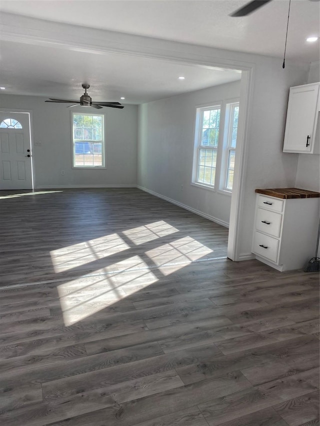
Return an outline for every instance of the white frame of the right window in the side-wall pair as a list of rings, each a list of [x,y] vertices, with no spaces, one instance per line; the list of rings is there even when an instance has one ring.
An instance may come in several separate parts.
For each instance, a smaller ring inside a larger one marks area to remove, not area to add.
[[[231,147],[232,141],[232,128],[233,128],[233,117],[234,117],[234,108],[239,107],[239,99],[227,100],[225,102],[225,113],[224,113],[224,130],[223,130],[223,143],[220,155],[220,173],[219,173],[219,189],[218,192],[221,192],[226,195],[232,194],[232,188],[226,187],[227,177],[228,177],[228,165],[229,165],[229,156],[230,152],[236,152],[235,147]]]

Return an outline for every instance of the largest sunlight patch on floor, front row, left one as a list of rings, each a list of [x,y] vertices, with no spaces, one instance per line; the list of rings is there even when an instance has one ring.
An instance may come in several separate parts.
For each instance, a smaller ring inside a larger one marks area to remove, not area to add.
[[[128,261],[131,267],[140,266],[142,269],[130,272],[126,268],[109,276],[79,277],[57,287],[65,326],[96,314],[157,281],[138,256],[126,259],[126,265]],[[112,268],[116,270],[122,266],[119,264]]]

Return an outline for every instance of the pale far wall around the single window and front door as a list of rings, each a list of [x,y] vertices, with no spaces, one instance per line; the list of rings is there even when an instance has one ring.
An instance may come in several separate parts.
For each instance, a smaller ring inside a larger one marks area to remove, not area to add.
[[[105,169],[73,169],[70,108],[45,103],[46,98],[1,95],[1,108],[32,111],[32,160],[35,188],[136,185],[137,106],[103,108],[105,116]],[[73,107],[73,112],[83,112]],[[87,108],[87,112],[97,112]],[[41,146],[34,142],[41,141]],[[64,170],[64,175],[61,175]]]

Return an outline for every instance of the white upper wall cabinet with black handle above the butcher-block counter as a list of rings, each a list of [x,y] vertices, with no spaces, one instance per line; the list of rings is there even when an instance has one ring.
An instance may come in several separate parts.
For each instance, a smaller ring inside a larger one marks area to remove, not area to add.
[[[319,111],[319,84],[290,87],[283,152],[313,153]]]

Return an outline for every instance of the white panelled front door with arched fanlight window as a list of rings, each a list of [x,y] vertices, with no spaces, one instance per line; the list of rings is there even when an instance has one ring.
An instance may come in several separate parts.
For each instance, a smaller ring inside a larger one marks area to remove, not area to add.
[[[0,111],[0,189],[32,189],[30,117]]]

